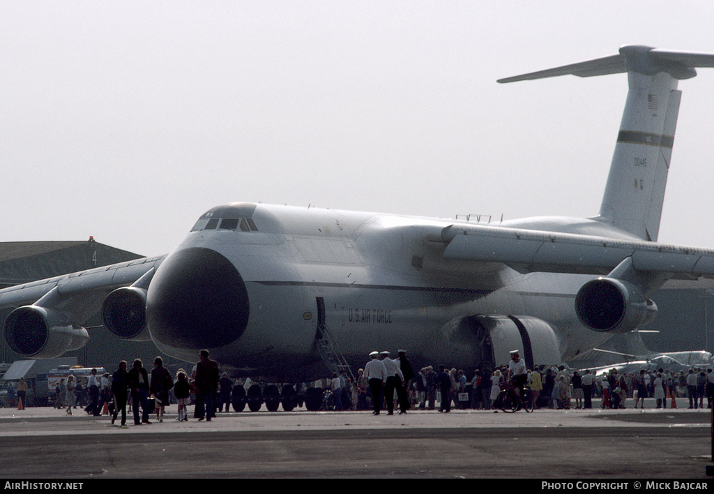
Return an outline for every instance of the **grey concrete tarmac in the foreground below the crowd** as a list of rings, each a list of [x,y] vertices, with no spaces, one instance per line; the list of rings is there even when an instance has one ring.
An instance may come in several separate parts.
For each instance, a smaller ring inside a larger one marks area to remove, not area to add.
[[[124,428],[51,407],[0,409],[0,476],[708,479],[710,410],[219,413]],[[263,409],[264,410],[264,409]],[[189,417],[193,409],[189,407]],[[117,424],[119,421],[117,421]]]

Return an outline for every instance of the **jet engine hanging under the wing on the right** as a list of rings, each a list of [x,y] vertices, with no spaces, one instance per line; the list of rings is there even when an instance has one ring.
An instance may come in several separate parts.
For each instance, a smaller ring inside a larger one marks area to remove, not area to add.
[[[590,330],[624,333],[652,322],[657,305],[630,282],[600,277],[575,295],[575,313]]]

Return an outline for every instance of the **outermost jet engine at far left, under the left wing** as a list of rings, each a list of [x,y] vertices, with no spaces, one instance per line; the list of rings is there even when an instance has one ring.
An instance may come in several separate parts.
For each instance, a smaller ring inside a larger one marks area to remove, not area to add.
[[[25,305],[7,317],[5,339],[23,357],[54,358],[84,347],[89,334],[59,310]]]

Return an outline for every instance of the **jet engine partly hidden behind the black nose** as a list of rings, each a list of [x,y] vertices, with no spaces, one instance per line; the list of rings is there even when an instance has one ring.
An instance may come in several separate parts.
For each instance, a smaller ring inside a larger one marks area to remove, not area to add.
[[[104,325],[122,340],[149,341],[146,327],[146,290],[122,287],[111,292],[101,306]]]

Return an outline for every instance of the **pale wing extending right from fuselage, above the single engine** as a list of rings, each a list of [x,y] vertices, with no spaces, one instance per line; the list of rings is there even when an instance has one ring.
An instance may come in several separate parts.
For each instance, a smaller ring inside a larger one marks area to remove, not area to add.
[[[630,258],[637,272],[714,278],[714,250],[506,227],[451,225],[441,232],[447,259],[502,262],[519,272],[607,275]]]

